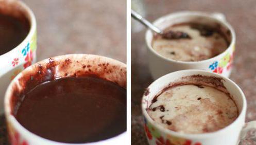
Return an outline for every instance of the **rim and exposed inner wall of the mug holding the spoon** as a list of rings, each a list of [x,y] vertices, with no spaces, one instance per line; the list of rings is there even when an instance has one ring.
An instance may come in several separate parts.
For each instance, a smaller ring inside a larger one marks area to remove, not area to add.
[[[225,51],[227,51],[228,48],[230,48],[233,44],[234,44],[234,30],[232,29],[232,27],[224,21],[220,21],[218,20],[216,17],[214,17],[211,14],[207,14],[207,13],[203,13],[203,12],[191,12],[191,11],[187,11],[187,12],[177,12],[177,13],[172,13],[166,16],[162,16],[159,19],[157,19],[155,22],[153,22],[154,25],[156,25],[157,27],[159,27],[161,30],[164,30],[165,28],[175,25],[175,24],[181,24],[181,23],[198,23],[198,24],[204,24],[204,25],[208,25],[211,26],[213,28],[216,28],[218,30],[220,30],[220,33],[222,35],[225,36],[225,38],[227,39],[227,41],[229,42],[229,46],[226,48]],[[153,51],[157,56],[164,58],[168,61],[174,61],[174,62],[182,62],[182,63],[195,63],[193,61],[179,61],[179,60],[173,60],[173,59],[169,59],[169,58],[165,58],[161,55],[159,55],[158,52],[156,52],[155,49],[152,48],[152,41],[154,38],[155,33],[147,30],[146,32],[146,43],[148,48]],[[224,51],[224,52],[225,52]],[[224,53],[222,52],[222,53]],[[222,54],[220,53],[220,54]],[[219,54],[219,55],[220,55]],[[219,55],[215,56],[218,57]],[[215,58],[213,57],[213,58]],[[210,58],[212,59],[212,58]],[[207,59],[207,60],[210,60]],[[196,61],[196,62],[203,62],[206,60],[201,60],[201,61]]]

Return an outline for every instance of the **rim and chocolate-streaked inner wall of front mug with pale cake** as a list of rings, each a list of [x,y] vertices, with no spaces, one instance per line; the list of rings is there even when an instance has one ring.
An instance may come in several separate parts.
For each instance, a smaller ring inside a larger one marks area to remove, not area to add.
[[[202,76],[203,79],[189,79],[191,76]],[[142,98],[142,112],[146,119],[151,124],[155,125],[159,130],[164,131],[166,133],[175,134],[178,136],[189,135],[192,137],[196,137],[198,134],[182,134],[163,128],[161,125],[154,122],[146,111],[147,108],[150,106],[152,99],[159,93],[162,93],[164,88],[172,86],[175,83],[190,81],[197,81],[202,84],[217,86],[220,90],[224,90],[225,92],[230,93],[231,98],[233,99],[238,108],[238,117],[235,119],[235,121],[240,120],[240,118],[243,117],[241,116],[241,114],[242,112],[245,113],[246,111],[246,99],[240,87],[238,87],[233,81],[218,74],[204,70],[180,70],[172,72],[157,79],[155,82],[150,84],[149,87],[146,89]],[[235,121],[233,121],[231,124],[218,131],[200,134],[200,137],[217,135],[219,132],[224,131],[226,128],[231,128]]]

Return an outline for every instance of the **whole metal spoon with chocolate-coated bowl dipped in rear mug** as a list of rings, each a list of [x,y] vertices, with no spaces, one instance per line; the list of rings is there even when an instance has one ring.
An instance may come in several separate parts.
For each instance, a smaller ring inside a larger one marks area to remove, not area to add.
[[[166,32],[164,32],[133,10],[131,10],[131,16],[135,20],[139,21],[141,24],[143,24],[146,27],[148,27],[149,29],[151,29],[152,31],[162,35],[162,37],[164,39],[191,39],[189,34],[181,32],[181,31],[166,31]]]

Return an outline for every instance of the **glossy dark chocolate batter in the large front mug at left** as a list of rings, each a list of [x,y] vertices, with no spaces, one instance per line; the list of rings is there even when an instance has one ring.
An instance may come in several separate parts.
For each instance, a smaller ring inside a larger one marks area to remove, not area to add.
[[[50,140],[104,140],[126,131],[126,89],[94,77],[61,78],[30,90],[14,114],[27,130]]]

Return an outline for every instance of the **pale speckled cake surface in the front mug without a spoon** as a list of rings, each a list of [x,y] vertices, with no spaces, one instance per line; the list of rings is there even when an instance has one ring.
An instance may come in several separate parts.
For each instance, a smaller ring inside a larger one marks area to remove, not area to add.
[[[169,88],[147,112],[164,128],[192,134],[220,130],[238,116],[237,106],[228,94],[203,85]]]

